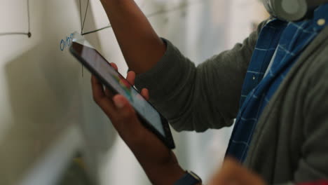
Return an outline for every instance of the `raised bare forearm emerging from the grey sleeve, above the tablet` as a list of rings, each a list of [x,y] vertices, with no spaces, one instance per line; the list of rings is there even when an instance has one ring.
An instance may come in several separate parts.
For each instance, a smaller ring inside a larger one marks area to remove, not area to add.
[[[133,0],[101,0],[128,67],[137,74],[151,69],[165,53],[165,43]]]

